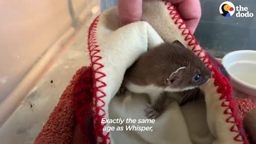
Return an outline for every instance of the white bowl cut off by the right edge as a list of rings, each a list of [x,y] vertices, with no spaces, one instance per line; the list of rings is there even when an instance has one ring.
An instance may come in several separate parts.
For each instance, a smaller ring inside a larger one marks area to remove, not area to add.
[[[222,59],[222,65],[231,77],[231,85],[256,98],[256,51],[230,52]]]

